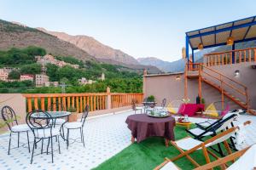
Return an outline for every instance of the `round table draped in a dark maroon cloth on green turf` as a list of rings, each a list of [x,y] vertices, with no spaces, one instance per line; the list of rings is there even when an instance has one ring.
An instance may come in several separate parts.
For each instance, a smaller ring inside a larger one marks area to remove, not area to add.
[[[140,143],[152,136],[165,138],[166,146],[168,146],[170,140],[174,140],[175,118],[172,116],[156,118],[146,114],[137,114],[128,116],[125,122],[131,130],[132,143],[135,139],[137,139],[137,143]]]

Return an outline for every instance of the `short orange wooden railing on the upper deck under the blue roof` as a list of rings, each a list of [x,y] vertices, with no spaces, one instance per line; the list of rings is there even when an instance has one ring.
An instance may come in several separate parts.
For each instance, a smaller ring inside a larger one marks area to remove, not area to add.
[[[232,54],[234,58],[232,57]],[[252,61],[256,61],[256,48],[236,49],[204,55],[204,63],[207,66],[232,65]]]

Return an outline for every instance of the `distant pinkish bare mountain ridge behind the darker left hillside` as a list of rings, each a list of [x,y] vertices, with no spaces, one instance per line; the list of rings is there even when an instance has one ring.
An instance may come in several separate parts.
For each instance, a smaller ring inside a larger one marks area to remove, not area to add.
[[[83,49],[88,54],[96,57],[99,60],[111,60],[117,61],[119,63],[124,63],[125,65],[139,65],[137,59],[131,57],[131,55],[125,54],[124,52],[120,51],[119,49],[113,49],[108,47],[107,45],[98,42],[93,37],[88,36],[72,36],[68,35],[65,32],[57,32],[57,31],[47,31],[44,28],[38,28],[40,31],[44,31],[50,35],[60,38],[66,42],[73,43],[78,48]]]

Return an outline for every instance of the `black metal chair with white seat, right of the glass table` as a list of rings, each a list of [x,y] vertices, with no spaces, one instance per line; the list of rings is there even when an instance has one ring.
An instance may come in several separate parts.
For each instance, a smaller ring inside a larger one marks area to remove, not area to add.
[[[63,132],[63,136],[64,136],[64,127],[67,129],[67,149],[68,149],[68,145],[69,145],[69,131],[73,130],[73,129],[80,129],[80,133],[81,133],[81,142],[84,144],[84,122],[86,117],[88,116],[89,113],[89,105],[86,105],[84,108],[84,112],[82,115],[82,118],[80,121],[78,122],[65,122],[62,124],[61,128],[62,128],[62,132]]]

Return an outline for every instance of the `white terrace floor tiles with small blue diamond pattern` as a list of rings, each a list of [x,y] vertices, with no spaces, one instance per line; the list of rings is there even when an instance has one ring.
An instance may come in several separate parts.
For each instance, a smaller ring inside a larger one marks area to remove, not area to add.
[[[31,165],[31,154],[24,147],[11,150],[11,154],[8,156],[9,136],[2,135],[0,136],[0,170],[85,170],[96,167],[131,144],[131,132],[125,124],[126,117],[131,114],[133,114],[133,111],[125,111],[114,116],[102,116],[88,120],[84,127],[85,148],[81,143],[74,143],[67,150],[66,144],[62,141],[61,154],[55,151],[54,163],[51,163],[50,155],[43,154],[34,156],[34,161]],[[253,144],[256,143],[256,116],[241,116],[240,122],[236,122],[236,124],[247,120],[251,120],[253,123],[250,127],[247,127],[245,144]],[[190,121],[201,122],[202,120],[191,118]],[[12,140],[13,146],[17,144],[15,137]],[[20,137],[21,141],[26,141],[26,135],[24,137],[21,135]],[[71,138],[79,138],[79,131],[73,131]],[[46,144],[44,145],[45,148]],[[57,149],[56,143],[54,148]],[[41,146],[38,144],[36,153],[40,153],[40,149]]]

